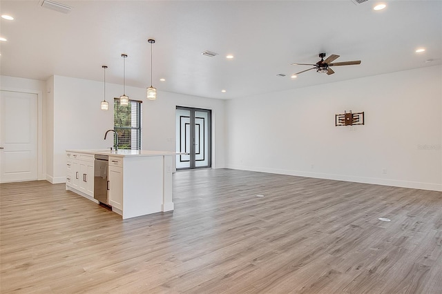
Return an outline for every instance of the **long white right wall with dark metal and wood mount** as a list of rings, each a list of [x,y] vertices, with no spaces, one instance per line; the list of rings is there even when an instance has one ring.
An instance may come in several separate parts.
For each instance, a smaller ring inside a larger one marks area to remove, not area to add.
[[[227,167],[442,190],[441,72],[432,66],[229,100]],[[364,111],[365,126],[334,126],[344,110]]]

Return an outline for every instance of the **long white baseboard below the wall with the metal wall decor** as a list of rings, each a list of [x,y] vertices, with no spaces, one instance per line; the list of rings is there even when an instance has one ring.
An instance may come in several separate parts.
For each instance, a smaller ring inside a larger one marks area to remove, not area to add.
[[[236,166],[231,165],[227,168],[231,168],[234,170],[250,170],[256,171],[260,173],[276,173],[279,175],[294,175],[297,177],[313,177],[316,179],[332,179],[336,181],[345,181],[345,182],[355,182],[355,183],[363,183],[363,184],[376,184],[383,186],[393,186],[393,187],[401,187],[401,188],[414,188],[421,190],[433,190],[433,191],[442,191],[442,184],[433,184],[433,183],[423,183],[423,182],[410,182],[410,181],[400,181],[396,179],[379,179],[374,177],[355,177],[352,175],[334,175],[327,173],[311,173],[304,172],[299,170],[281,170],[276,168],[260,168],[260,167],[250,167],[250,166]]]

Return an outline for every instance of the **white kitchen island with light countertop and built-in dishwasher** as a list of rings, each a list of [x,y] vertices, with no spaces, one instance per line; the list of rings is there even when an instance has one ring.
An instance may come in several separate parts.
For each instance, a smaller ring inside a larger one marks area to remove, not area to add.
[[[104,182],[107,203],[103,203],[123,219],[171,211],[175,154],[151,150],[66,150],[66,190],[99,203],[95,197],[97,185]],[[95,166],[95,155],[107,156],[108,167]]]

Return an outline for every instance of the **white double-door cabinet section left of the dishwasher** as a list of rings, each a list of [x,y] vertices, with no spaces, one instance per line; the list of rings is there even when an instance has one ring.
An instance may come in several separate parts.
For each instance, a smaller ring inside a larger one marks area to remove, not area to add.
[[[94,155],[66,153],[66,188],[94,196]]]

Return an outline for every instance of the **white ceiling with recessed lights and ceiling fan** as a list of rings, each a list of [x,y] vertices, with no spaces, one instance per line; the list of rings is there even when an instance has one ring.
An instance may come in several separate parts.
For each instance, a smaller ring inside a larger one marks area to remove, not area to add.
[[[434,66],[442,59],[442,1],[64,1],[68,14],[41,1],[3,1],[1,75],[46,80],[51,75],[230,99]],[[426,51],[417,54],[416,48]],[[200,53],[211,50],[216,57]],[[360,66],[327,76],[291,63],[316,63],[318,53]],[[227,54],[234,59],[226,59]],[[431,62],[425,62],[432,59]],[[278,77],[283,73],[287,77]],[[160,81],[160,78],[166,81]],[[225,89],[227,92],[222,93]],[[119,94],[119,93],[117,93]],[[115,95],[117,95],[115,94]]]

